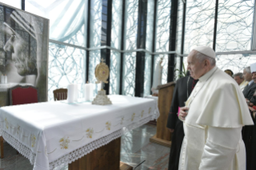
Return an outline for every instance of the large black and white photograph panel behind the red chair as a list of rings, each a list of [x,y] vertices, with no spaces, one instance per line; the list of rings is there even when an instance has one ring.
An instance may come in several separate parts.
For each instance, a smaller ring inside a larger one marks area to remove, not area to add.
[[[47,101],[49,20],[0,3],[0,71],[8,83],[39,89]]]

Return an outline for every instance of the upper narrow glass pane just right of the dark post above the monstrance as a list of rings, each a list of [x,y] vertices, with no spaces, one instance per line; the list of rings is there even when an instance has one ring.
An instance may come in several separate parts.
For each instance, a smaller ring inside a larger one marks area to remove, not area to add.
[[[112,2],[112,32],[111,32],[111,47],[121,49],[122,37],[122,6],[123,1],[113,0]]]

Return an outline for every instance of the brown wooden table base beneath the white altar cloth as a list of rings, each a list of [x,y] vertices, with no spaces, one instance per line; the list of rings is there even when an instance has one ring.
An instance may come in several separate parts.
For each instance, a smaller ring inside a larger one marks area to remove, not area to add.
[[[112,142],[68,164],[68,170],[132,170],[132,167],[128,168],[127,164],[120,164],[120,145],[120,138],[112,140]]]

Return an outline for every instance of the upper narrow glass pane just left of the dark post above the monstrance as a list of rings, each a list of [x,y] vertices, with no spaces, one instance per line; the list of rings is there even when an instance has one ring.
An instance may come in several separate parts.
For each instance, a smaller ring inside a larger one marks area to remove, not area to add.
[[[100,47],[102,0],[91,0],[90,47]],[[91,53],[90,53],[91,54]]]

